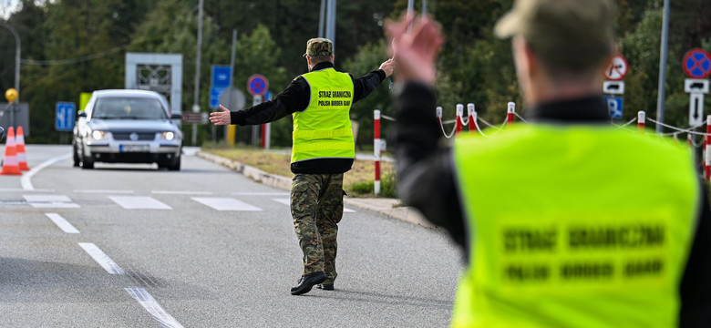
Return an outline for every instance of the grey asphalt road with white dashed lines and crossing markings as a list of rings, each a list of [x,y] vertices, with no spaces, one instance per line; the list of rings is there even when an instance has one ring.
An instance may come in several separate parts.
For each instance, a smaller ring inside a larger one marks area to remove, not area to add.
[[[335,291],[293,296],[287,191],[190,154],[86,170],[26,149],[33,170],[0,176],[0,326],[448,326],[461,262],[441,231],[352,208]]]

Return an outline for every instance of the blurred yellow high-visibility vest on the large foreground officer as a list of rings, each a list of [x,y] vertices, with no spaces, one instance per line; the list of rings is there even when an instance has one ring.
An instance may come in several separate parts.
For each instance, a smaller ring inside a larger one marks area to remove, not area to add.
[[[470,258],[453,327],[677,325],[700,197],[687,147],[529,124],[461,136],[454,157]]]

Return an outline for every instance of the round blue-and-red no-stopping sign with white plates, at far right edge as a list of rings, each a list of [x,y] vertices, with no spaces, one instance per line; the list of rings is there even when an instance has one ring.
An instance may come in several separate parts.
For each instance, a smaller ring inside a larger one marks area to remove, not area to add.
[[[711,75],[711,56],[704,49],[694,48],[686,52],[682,60],[684,73],[684,91],[689,93],[689,125],[697,127],[704,124],[704,95],[708,93],[708,80]]]

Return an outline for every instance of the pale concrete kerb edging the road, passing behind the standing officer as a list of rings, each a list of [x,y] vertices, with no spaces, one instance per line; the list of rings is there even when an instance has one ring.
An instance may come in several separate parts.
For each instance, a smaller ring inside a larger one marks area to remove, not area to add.
[[[220,164],[223,167],[235,170],[238,173],[242,173],[244,176],[253,179],[257,182],[263,183],[267,186],[283,190],[291,190],[292,188],[291,178],[267,173],[261,169],[253,168],[239,161],[233,159],[226,159],[221,156],[206,153],[204,151],[197,151],[195,155],[201,159],[210,160],[211,162]],[[425,220],[422,217],[418,210],[415,210],[411,207],[402,206],[400,200],[397,199],[345,197],[344,202],[346,205],[355,206],[365,210],[372,210],[397,220],[404,220],[410,223],[419,224],[424,227],[434,228],[434,226],[429,223],[428,220]]]

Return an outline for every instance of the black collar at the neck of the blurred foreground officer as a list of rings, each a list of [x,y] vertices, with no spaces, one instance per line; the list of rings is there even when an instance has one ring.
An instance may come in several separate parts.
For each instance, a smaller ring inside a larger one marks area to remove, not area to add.
[[[610,122],[610,113],[600,95],[537,104],[526,110],[525,117],[531,121]]]

